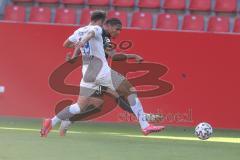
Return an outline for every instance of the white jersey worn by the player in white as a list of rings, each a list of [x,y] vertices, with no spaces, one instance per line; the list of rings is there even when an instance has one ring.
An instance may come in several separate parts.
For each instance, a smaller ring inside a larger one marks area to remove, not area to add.
[[[95,37],[90,39],[83,48],[81,48],[81,53],[83,57],[95,56],[101,59],[103,67],[99,73],[99,76],[102,77],[105,73],[110,72],[110,67],[105,57],[105,51],[103,47],[103,38],[102,38],[102,28],[98,25],[88,25],[77,29],[68,39],[71,42],[77,43],[81,41],[88,32],[94,31]],[[89,58],[90,59],[90,58]],[[83,64],[84,58],[83,58]],[[83,75],[87,69],[87,65],[83,65],[82,72]]]

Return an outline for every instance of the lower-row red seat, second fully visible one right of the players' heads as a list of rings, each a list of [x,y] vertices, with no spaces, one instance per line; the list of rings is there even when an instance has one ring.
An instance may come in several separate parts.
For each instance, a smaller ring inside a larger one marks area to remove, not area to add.
[[[178,16],[175,14],[162,13],[158,15],[157,26],[159,29],[178,29]]]

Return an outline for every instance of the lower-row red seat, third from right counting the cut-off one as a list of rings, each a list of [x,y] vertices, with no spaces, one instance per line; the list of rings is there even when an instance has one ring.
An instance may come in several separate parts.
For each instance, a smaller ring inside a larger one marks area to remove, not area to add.
[[[204,31],[204,17],[202,15],[184,16],[182,29],[192,31]]]

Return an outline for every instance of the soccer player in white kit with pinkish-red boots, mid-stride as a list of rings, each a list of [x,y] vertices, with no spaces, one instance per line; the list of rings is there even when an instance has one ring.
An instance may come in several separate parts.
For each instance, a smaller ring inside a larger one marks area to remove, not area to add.
[[[91,23],[88,26],[76,30],[74,34],[65,41],[64,46],[70,48],[75,46],[75,48],[79,48],[82,53],[83,78],[80,83],[80,95],[77,103],[64,108],[52,119],[44,119],[40,132],[42,137],[46,137],[58,122],[68,120],[74,115],[84,111],[90,102],[94,104],[94,101],[101,101],[101,99],[90,97],[98,89],[99,85],[113,91],[119,90],[125,94],[133,113],[140,123],[144,135],[164,129],[164,126],[153,126],[145,120],[144,111],[137,95],[131,92],[130,88],[125,89],[125,87],[131,87],[131,85],[124,80],[123,76],[111,70],[108,66],[105,58],[101,28],[105,18],[105,12],[93,12],[91,15]],[[113,77],[115,77],[115,79],[113,79]]]

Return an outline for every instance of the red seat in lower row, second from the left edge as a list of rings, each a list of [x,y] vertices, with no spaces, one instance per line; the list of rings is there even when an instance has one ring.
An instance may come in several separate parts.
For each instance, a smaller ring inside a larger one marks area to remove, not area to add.
[[[32,7],[29,21],[50,23],[51,9],[49,7]]]

